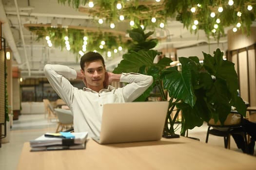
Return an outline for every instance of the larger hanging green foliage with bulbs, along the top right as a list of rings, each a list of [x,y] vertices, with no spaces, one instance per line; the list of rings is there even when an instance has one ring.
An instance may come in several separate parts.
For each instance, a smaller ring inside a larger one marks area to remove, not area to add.
[[[89,0],[58,0],[59,3],[66,3],[73,8],[81,8],[79,5],[85,5]],[[116,4],[120,2],[122,9],[118,10]],[[197,33],[203,30],[208,38],[214,37],[219,40],[221,36],[225,36],[225,27],[237,27],[244,29],[249,34],[250,26],[256,18],[256,0],[235,0],[233,5],[228,4],[228,0],[162,0],[160,2],[150,2],[140,0],[94,0],[94,7],[90,8],[87,13],[94,17],[104,17],[109,22],[118,22],[118,16],[124,15],[126,19],[134,19],[137,24],[143,22],[144,25],[150,27],[158,27],[158,23],[152,23],[151,18],[156,17],[157,21],[165,22],[170,18],[175,18],[183,23],[183,26]],[[252,10],[248,10],[247,6],[251,5]],[[153,7],[157,8],[153,8]],[[195,12],[191,12],[191,8],[195,7]],[[218,7],[222,7],[223,12],[218,12]],[[99,10],[97,10],[97,8]],[[215,17],[210,17],[211,13],[215,13]],[[241,12],[241,16],[238,16]],[[220,23],[217,23],[217,18]],[[194,24],[197,20],[198,24]],[[217,26],[215,26],[217,24]],[[192,26],[196,29],[193,30]],[[194,27],[195,27],[194,26]],[[217,28],[215,28],[217,27]]]

